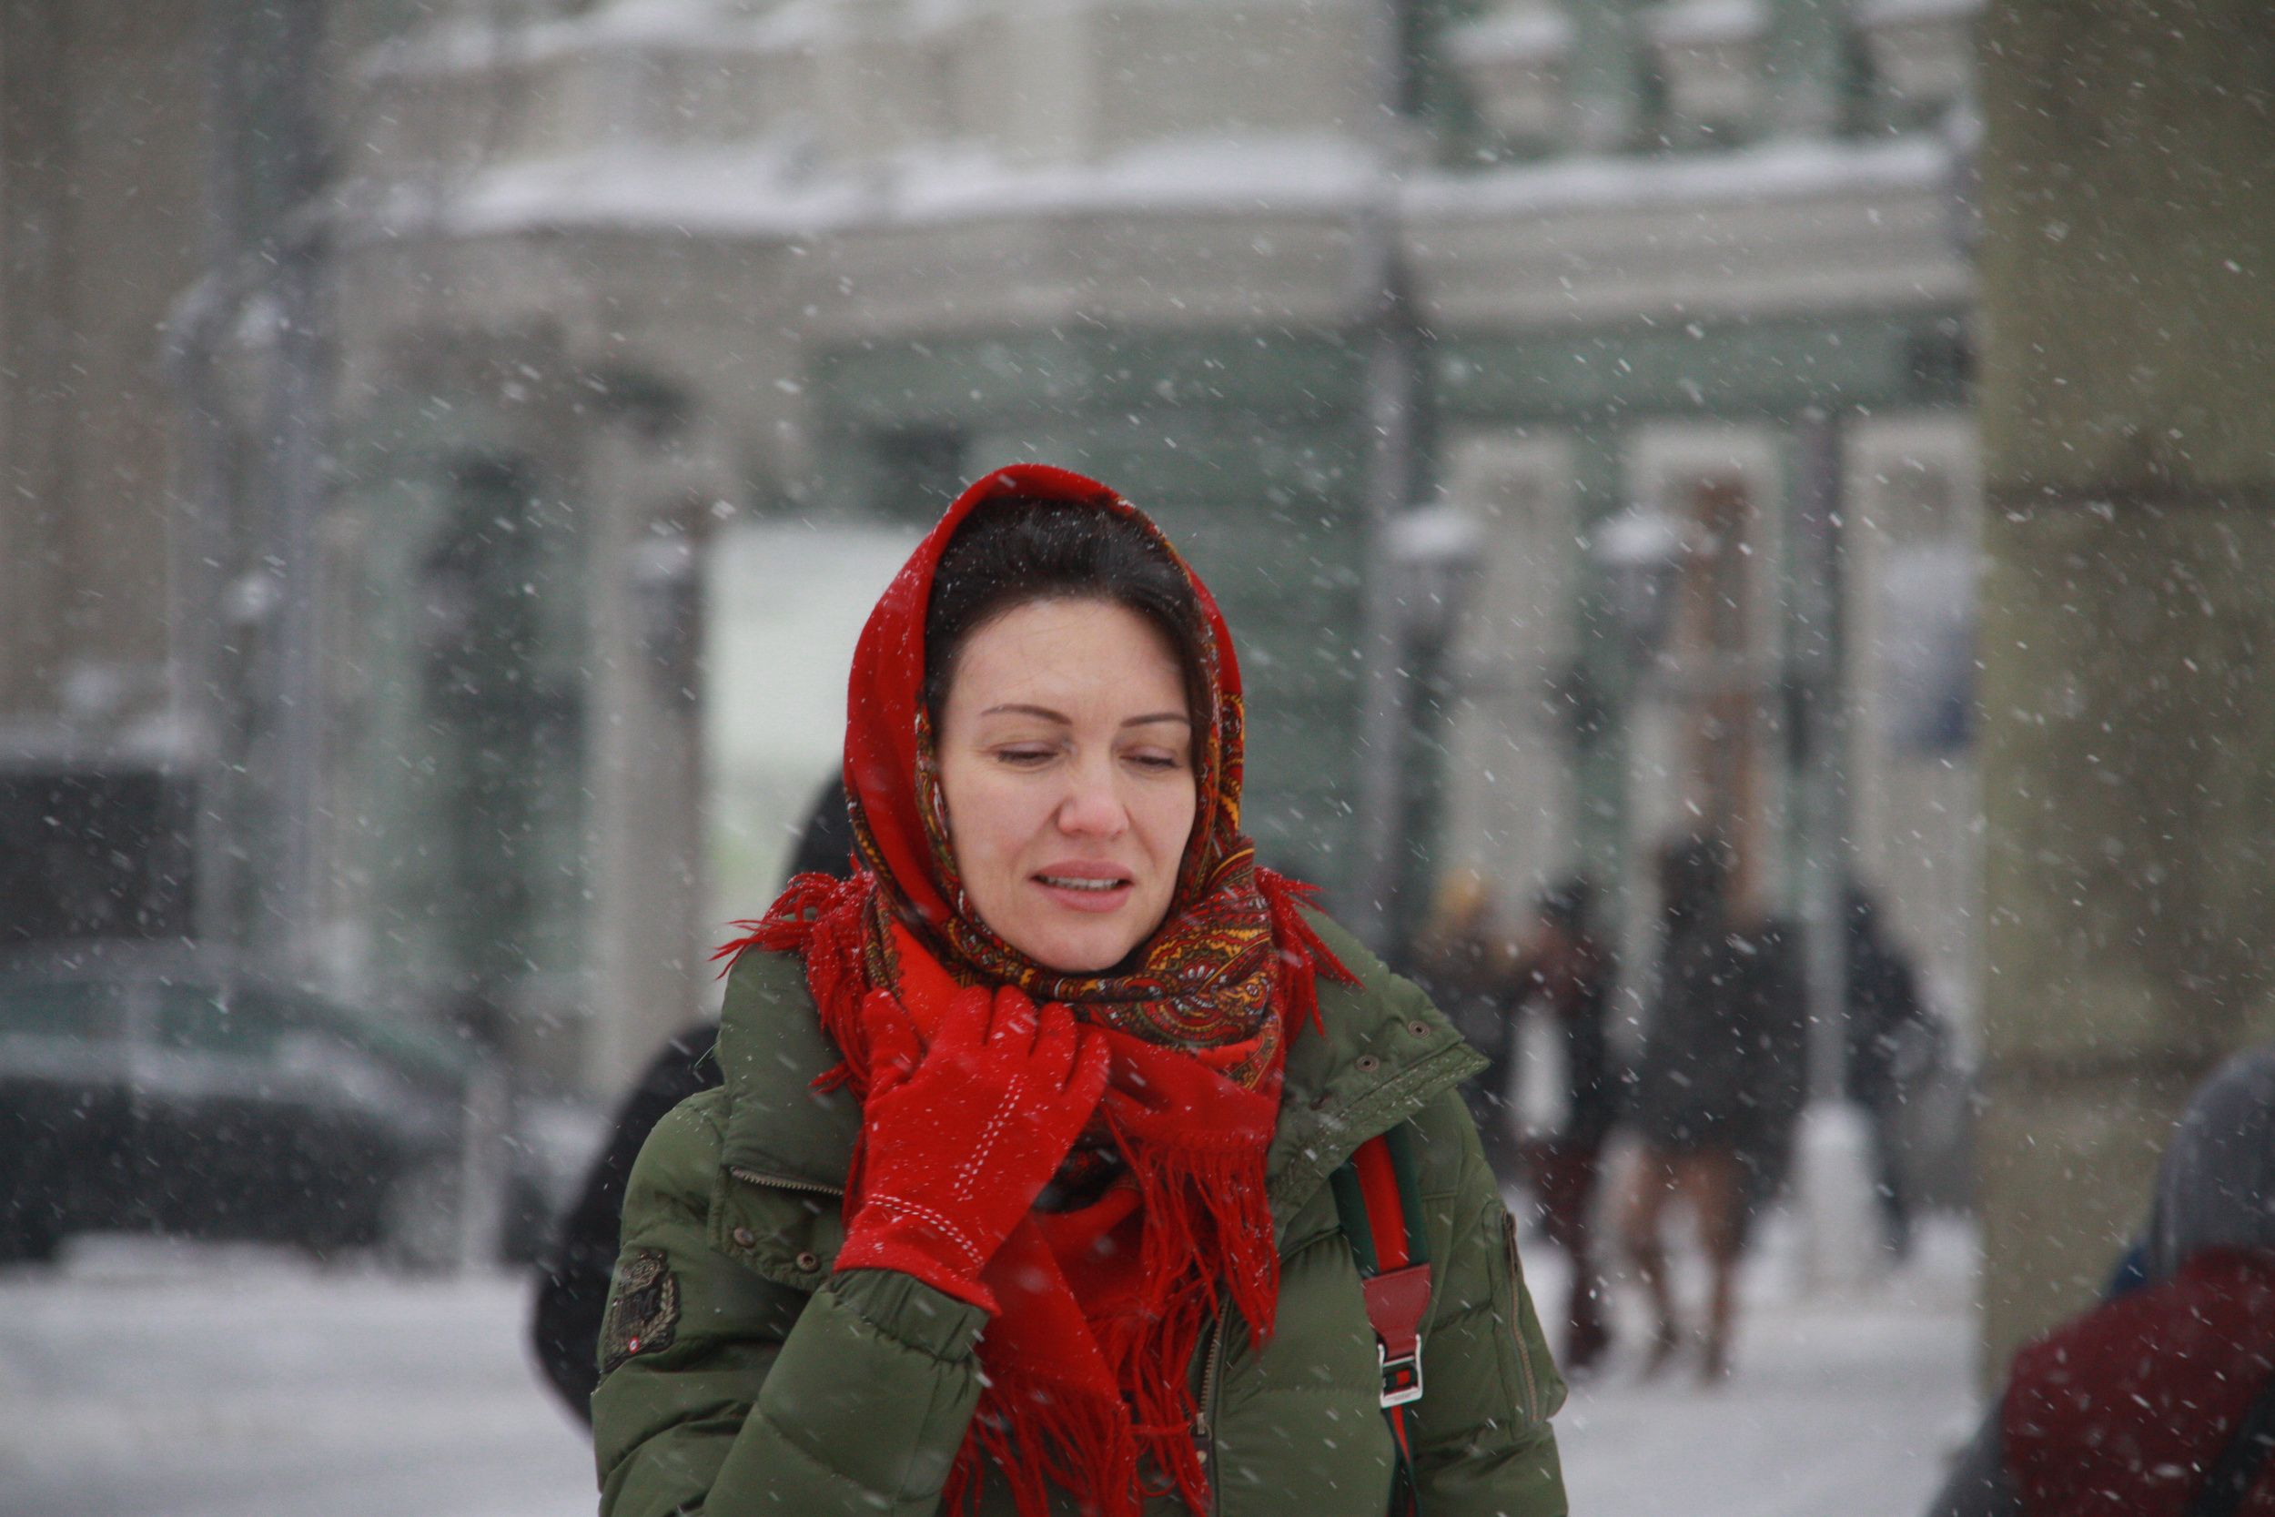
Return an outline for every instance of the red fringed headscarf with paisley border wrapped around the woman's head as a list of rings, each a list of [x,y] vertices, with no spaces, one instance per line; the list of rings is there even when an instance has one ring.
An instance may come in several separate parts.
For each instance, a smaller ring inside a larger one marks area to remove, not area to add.
[[[1160,928],[1124,973],[1035,964],[965,907],[924,710],[924,619],[933,573],[978,509],[1021,503],[1092,507],[1142,528],[1192,585],[1206,623],[1206,712],[1194,741],[1197,807]],[[860,871],[801,876],[748,937],[721,948],[794,951],[855,1094],[869,1051],[860,1003],[890,989],[930,1028],[956,985],[1017,985],[1065,1001],[1112,1048],[1101,1119],[1060,1176],[1074,1210],[1031,1212],[990,1262],[999,1315],[981,1340],[987,1387],[949,1474],[946,1503],[976,1503],[992,1460],[1021,1517],[1044,1517],[1046,1481],[1085,1510],[1138,1512],[1140,1490],[1174,1490],[1201,1510],[1208,1478],[1190,1426],[1188,1383],[1201,1326],[1233,1305],[1272,1333],[1279,1255],[1265,1201],[1265,1146],[1281,1062],[1317,1017],[1315,976],[1349,971],[1297,912],[1308,889],[1256,867],[1240,832],[1240,666],[1215,598],[1160,530],[1117,494],[1040,464],[999,469],[967,489],[862,628],[846,698],[846,791]],[[846,1217],[860,1205],[860,1155]]]

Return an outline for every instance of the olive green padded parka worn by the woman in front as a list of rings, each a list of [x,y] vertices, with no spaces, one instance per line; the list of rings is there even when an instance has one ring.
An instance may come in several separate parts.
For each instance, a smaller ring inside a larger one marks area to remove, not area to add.
[[[1219,1517],[1376,1517],[1392,1446],[1358,1269],[1329,1174],[1413,1121],[1433,1260],[1422,1401],[1408,1408],[1422,1517],[1563,1517],[1549,1415],[1563,1381],[1517,1267],[1515,1226],[1456,1085],[1483,1060],[1422,992],[1315,919],[1360,985],[1322,978],[1326,1035],[1288,1046],[1267,1153],[1279,1328],[1203,1333],[1194,1437]],[[721,1089],[642,1149],[594,1392],[603,1517],[917,1515],[978,1401],[987,1315],[915,1278],[830,1276],[860,1110],[810,1083],[837,1062],[796,960],[728,978]],[[1074,1501],[1058,1508],[1074,1512]],[[987,1517],[1012,1512],[1001,1478]],[[1176,1517],[1174,1499],[1147,1506]]]

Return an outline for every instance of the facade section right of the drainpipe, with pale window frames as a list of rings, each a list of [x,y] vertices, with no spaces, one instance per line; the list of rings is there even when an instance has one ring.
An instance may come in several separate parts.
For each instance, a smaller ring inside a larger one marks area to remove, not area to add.
[[[1888,901],[1972,1021],[1970,5],[1504,5],[1447,34],[1502,155],[1410,193],[1438,482],[1490,523],[1451,650],[1440,848],[1511,885],[1713,830]],[[1840,434],[1811,607],[1800,421]],[[1802,826],[1831,641],[1845,835]]]

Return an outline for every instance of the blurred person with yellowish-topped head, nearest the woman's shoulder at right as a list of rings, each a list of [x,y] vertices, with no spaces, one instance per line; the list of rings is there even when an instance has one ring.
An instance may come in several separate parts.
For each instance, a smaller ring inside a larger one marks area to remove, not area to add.
[[[1515,944],[1495,921],[1492,887],[1472,869],[1438,882],[1429,923],[1415,937],[1408,976],[1445,1012],[1463,1042],[1486,1055],[1481,1073],[1461,1087],[1486,1144],[1486,1162],[1502,1185],[1522,1174],[1517,1130],[1508,1114],[1508,1071],[1515,1053]]]

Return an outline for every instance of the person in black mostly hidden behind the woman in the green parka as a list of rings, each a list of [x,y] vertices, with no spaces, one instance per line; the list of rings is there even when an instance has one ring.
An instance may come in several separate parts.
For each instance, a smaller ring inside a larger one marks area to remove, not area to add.
[[[844,780],[830,780],[814,796],[799,848],[789,857],[789,873],[842,878],[851,867],[853,823],[846,816],[846,789]],[[655,1124],[687,1096],[721,1083],[719,1064],[712,1060],[717,1042],[719,1023],[698,1021],[657,1051],[617,1108],[601,1155],[537,1262],[530,1346],[546,1381],[587,1424],[592,1424],[592,1390],[601,1383],[601,1317],[607,1312],[607,1280],[617,1267],[626,1178]]]

